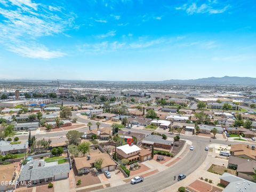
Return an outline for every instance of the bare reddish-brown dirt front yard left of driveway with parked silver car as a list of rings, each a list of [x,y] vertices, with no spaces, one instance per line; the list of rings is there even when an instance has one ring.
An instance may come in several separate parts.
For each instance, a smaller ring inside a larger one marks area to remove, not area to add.
[[[73,171],[75,174],[76,183],[79,179],[81,179],[81,185],[76,185],[77,188],[100,183],[100,179],[95,173],[78,174],[75,166],[73,166]]]

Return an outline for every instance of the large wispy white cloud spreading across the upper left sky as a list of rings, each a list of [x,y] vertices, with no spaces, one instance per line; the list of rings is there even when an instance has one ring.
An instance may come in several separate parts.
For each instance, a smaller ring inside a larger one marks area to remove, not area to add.
[[[0,16],[4,18],[0,21],[0,43],[7,50],[40,59],[65,55],[60,51],[50,51],[38,43],[38,38],[64,34],[68,28],[77,27],[74,25],[75,14],[61,12],[61,7],[36,4],[30,0],[10,0],[7,5],[12,9],[0,8]]]

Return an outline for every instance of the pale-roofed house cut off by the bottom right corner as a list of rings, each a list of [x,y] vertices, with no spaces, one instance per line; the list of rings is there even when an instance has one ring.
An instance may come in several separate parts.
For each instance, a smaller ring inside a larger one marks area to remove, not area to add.
[[[233,174],[223,173],[220,183],[225,186],[222,192],[252,192],[256,191],[256,183],[239,178]]]

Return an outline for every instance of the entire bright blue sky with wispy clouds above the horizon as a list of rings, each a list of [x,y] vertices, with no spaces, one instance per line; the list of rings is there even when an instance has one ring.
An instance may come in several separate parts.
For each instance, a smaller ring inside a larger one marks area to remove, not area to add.
[[[0,0],[0,78],[256,77],[253,0]]]

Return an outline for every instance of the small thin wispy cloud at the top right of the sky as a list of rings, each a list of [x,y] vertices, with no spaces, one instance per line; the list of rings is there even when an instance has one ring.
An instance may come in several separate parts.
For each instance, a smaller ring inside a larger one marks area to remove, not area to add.
[[[216,1],[208,1],[207,3],[203,3],[198,5],[196,3],[191,4],[183,4],[182,6],[175,7],[176,10],[186,11],[189,15],[195,13],[208,13],[208,14],[218,14],[223,13],[229,9],[230,5],[220,5]]]

